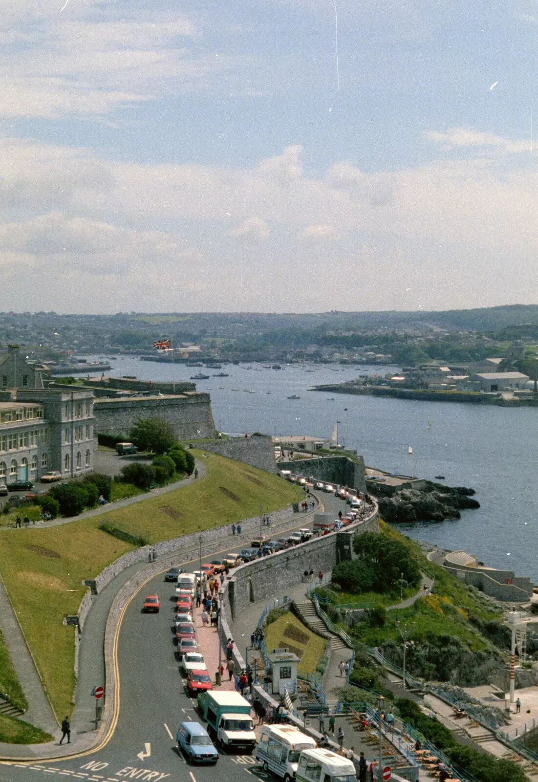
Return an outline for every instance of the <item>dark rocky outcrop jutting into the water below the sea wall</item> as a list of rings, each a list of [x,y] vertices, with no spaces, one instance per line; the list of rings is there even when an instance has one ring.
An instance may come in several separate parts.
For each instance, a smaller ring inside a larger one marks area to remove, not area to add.
[[[381,485],[377,494],[375,490],[370,493],[375,495],[379,513],[389,524],[442,522],[446,518],[461,518],[462,510],[480,507],[478,500],[472,499],[475,490],[433,481],[425,481],[420,489],[402,489],[392,497],[383,496]]]

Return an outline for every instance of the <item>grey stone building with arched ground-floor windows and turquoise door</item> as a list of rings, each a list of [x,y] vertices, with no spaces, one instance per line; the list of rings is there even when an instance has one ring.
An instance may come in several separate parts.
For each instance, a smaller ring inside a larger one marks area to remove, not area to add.
[[[0,393],[0,482],[38,480],[50,470],[72,478],[93,469],[93,394],[8,389]]]

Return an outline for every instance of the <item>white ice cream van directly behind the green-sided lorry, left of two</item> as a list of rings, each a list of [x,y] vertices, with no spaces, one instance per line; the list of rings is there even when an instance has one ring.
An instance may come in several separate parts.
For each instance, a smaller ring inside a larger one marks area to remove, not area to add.
[[[295,726],[264,725],[255,757],[264,766],[264,771],[271,769],[278,777],[284,777],[285,782],[292,782],[301,750],[314,749],[315,746],[314,739],[302,734]]]

